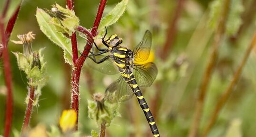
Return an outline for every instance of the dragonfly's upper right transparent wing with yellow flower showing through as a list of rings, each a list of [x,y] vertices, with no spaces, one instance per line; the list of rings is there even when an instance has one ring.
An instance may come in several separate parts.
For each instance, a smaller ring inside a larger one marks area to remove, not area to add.
[[[134,60],[137,62],[146,61],[150,53],[151,44],[152,34],[149,30],[147,30],[142,41],[133,50]]]

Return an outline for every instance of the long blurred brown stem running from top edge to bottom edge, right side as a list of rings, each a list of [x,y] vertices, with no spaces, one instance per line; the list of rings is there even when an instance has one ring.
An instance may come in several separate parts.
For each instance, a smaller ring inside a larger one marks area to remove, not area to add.
[[[214,69],[214,66],[217,61],[218,47],[220,46],[220,44],[223,40],[223,36],[225,34],[226,19],[227,19],[228,12],[229,12],[230,0],[225,0],[223,2],[224,2],[224,4],[223,4],[222,12],[221,12],[222,16],[219,20],[218,27],[215,32],[213,47],[212,47],[213,49],[212,49],[212,53],[210,55],[210,60],[208,61],[206,71],[205,71],[205,73],[203,75],[203,79],[201,81],[201,87],[199,89],[199,94],[198,94],[197,102],[196,102],[196,110],[195,110],[195,114],[194,114],[194,119],[191,124],[188,137],[196,137],[198,134],[198,128],[199,128],[200,121],[202,118],[202,112],[203,112],[203,108],[204,108],[208,84],[210,82],[210,79],[211,79],[211,76],[213,73],[213,69]]]

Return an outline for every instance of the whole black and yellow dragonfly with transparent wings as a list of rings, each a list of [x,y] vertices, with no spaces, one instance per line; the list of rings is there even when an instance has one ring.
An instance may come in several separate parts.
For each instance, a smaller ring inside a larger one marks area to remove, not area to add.
[[[121,46],[123,40],[117,34],[111,35],[105,40],[107,34],[106,29],[102,43],[107,48],[98,48],[94,43],[99,52],[95,53],[92,49],[87,63],[93,69],[105,74],[121,74],[117,81],[108,86],[106,92],[114,93],[115,99],[113,100],[118,101],[129,100],[135,95],[148,120],[153,136],[160,137],[157,124],[139,88],[139,86],[149,87],[158,73],[156,65],[147,62],[152,43],[151,32],[149,30],[145,32],[143,39],[133,51]]]

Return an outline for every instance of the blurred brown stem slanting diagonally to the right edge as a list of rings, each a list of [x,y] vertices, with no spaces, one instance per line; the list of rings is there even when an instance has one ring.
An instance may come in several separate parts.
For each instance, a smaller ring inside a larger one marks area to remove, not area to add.
[[[233,91],[234,87],[236,86],[236,82],[238,81],[242,70],[246,64],[246,61],[251,53],[251,51],[253,50],[253,47],[256,46],[256,32],[254,33],[254,37],[252,39],[251,44],[248,46],[248,48],[246,49],[246,53],[243,57],[242,62],[239,64],[236,73],[233,76],[232,81],[229,83],[226,91],[221,95],[221,97],[219,98],[217,105],[214,109],[214,112],[212,113],[212,116],[207,124],[207,128],[205,128],[202,137],[207,137],[210,129],[213,127],[214,123],[216,122],[217,116],[220,112],[220,110],[222,109],[222,107],[224,106],[226,100],[228,99],[228,97],[230,96],[231,92]]]

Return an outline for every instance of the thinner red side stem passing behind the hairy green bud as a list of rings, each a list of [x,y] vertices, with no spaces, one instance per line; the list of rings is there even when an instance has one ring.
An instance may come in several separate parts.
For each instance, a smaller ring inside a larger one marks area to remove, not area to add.
[[[67,0],[67,5],[70,10],[74,10],[74,0]],[[72,60],[73,64],[76,64],[76,61],[78,60],[78,44],[76,32],[73,32],[70,38],[72,45]]]

